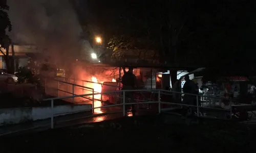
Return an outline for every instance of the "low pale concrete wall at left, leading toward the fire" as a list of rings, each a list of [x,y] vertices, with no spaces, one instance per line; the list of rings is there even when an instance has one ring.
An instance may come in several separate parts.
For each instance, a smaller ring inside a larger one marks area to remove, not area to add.
[[[91,104],[54,106],[53,113],[56,117],[91,108]],[[0,109],[0,126],[51,118],[51,111],[51,107]]]

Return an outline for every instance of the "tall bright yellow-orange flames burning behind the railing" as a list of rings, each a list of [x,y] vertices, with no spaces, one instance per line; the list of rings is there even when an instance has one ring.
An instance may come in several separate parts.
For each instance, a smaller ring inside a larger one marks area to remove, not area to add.
[[[94,83],[93,83],[93,89],[94,89],[94,91],[100,93],[100,92],[101,92],[101,85],[100,85],[100,84],[97,84],[97,83],[98,83],[97,78],[96,78],[96,77],[92,77],[92,82],[94,82]],[[95,95],[94,95],[94,98],[100,99],[100,96],[101,96],[101,94],[95,94]],[[101,101],[94,100],[94,107],[101,107],[101,106],[102,106],[102,105],[101,105]],[[95,113],[102,113],[101,109],[94,109],[94,112],[95,112]]]

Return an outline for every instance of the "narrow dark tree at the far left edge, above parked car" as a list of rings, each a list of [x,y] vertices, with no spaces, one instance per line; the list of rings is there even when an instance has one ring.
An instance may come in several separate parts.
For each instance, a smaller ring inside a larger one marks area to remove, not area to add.
[[[6,11],[9,10],[9,6],[7,5],[7,1],[0,1],[0,20],[1,20],[1,24],[0,24],[0,44],[1,44],[1,48],[0,48],[0,52],[3,54],[6,66],[7,66],[7,71],[10,73],[13,73],[11,69],[11,67],[13,67],[11,64],[11,60],[10,60],[10,56],[9,56],[9,47],[11,44],[11,39],[9,38],[9,36],[6,34],[6,30],[8,30],[9,32],[12,30],[12,25],[11,25],[11,21],[9,19],[8,13]],[[3,52],[2,48],[6,49],[6,53]],[[12,46],[12,52],[14,52],[13,50],[13,46]]]

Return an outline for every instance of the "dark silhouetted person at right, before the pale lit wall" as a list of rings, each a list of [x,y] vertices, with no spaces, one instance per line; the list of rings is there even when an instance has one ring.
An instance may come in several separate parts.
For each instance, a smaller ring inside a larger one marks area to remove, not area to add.
[[[186,93],[190,93],[190,94],[196,94],[196,85],[193,81],[191,81],[189,79],[189,76],[188,75],[185,75],[185,84],[183,86],[183,92],[184,92],[184,99],[183,99],[183,104],[186,104],[186,105],[195,105],[195,99],[196,99],[196,96],[193,96],[193,95],[188,95]],[[189,108],[189,107],[183,107],[185,112],[186,112],[186,115],[187,113],[188,114],[191,114],[191,115],[194,115],[194,112],[195,112],[195,108]]]

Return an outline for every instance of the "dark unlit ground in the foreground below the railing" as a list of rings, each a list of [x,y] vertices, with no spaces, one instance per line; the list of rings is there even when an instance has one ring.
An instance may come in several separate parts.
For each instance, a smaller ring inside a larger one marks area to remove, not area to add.
[[[1,152],[255,152],[256,128],[228,121],[167,123],[140,116],[1,137]]]

